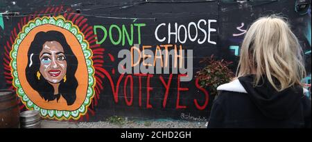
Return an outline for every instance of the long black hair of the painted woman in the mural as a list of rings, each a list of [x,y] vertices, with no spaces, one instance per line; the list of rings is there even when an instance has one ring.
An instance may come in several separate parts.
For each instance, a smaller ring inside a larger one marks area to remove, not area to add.
[[[42,77],[37,79],[37,72],[40,69],[40,52],[42,51],[43,45],[46,41],[58,41],[64,50],[67,61],[67,80],[64,82],[60,81],[59,94],[64,97],[67,101],[67,105],[72,105],[76,101],[76,89],[78,86],[77,79],[75,78],[75,73],[77,70],[78,61],[73,51],[69,47],[64,35],[58,31],[48,31],[48,32],[38,32],[31,43],[28,50],[28,63],[26,67],[26,79],[31,87],[36,90],[42,99],[46,101],[52,101],[54,99],[60,99],[60,96],[55,97],[53,86]],[[33,56],[31,56],[33,54]],[[32,65],[29,67],[31,61]]]

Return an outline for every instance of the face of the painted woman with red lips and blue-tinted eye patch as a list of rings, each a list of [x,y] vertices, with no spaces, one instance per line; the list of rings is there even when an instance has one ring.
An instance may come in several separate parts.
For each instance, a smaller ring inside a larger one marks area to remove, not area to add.
[[[46,41],[40,52],[40,74],[50,83],[60,83],[66,75],[67,61],[58,41]]]

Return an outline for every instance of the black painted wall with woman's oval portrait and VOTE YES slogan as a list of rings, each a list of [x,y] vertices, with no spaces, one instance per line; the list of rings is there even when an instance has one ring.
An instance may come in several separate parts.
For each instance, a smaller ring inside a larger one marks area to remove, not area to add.
[[[17,91],[21,110],[57,120],[207,121],[214,97],[194,77],[199,61],[214,54],[232,61],[235,71],[248,26],[280,12],[310,58],[303,81],[311,86],[311,10],[297,14],[295,0],[113,1],[55,0],[30,8],[35,1],[20,0],[0,7],[12,13],[0,15],[0,87]]]

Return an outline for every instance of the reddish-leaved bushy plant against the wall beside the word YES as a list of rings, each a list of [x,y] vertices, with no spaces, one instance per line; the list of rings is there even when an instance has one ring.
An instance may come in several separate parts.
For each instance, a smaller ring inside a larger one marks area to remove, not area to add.
[[[211,95],[218,94],[216,88],[224,83],[229,83],[234,78],[234,73],[228,68],[232,62],[223,59],[215,60],[214,54],[211,57],[206,57],[200,63],[205,63],[206,66],[196,72],[195,77],[199,79],[202,88],[209,88]]]

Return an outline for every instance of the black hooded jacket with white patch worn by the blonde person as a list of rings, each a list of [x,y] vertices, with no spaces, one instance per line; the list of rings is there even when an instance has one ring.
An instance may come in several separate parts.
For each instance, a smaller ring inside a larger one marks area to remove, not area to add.
[[[218,87],[207,128],[311,128],[311,98],[299,85],[277,92],[253,75]]]

